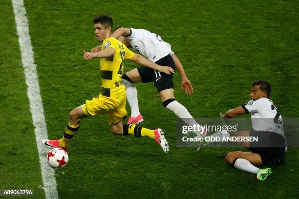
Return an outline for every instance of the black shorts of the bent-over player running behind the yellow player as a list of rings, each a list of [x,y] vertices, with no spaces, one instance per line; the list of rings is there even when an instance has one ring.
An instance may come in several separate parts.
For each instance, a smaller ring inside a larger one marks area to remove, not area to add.
[[[164,58],[157,60],[155,62],[161,66],[169,66],[175,71],[175,64],[170,55],[165,56]],[[137,68],[138,73],[141,77],[142,82],[154,82],[154,86],[156,86],[158,92],[163,91],[165,89],[174,88],[172,75],[167,75],[166,73],[160,73],[159,71],[155,71],[151,68],[140,66]]]

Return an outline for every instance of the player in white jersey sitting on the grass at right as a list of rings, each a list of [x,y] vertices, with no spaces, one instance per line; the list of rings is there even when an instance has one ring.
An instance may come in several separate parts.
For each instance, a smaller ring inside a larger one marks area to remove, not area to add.
[[[238,144],[251,152],[234,151],[226,155],[225,160],[233,167],[257,175],[258,180],[265,180],[272,172],[270,168],[259,169],[256,166],[275,166],[284,162],[286,139],[282,118],[273,101],[269,99],[271,85],[259,80],[252,84],[251,99],[239,106],[220,114],[221,118],[233,118],[245,113],[251,114],[254,131],[237,131],[231,134],[217,132],[212,136],[258,137],[258,142],[243,141]],[[222,135],[221,135],[222,134]]]

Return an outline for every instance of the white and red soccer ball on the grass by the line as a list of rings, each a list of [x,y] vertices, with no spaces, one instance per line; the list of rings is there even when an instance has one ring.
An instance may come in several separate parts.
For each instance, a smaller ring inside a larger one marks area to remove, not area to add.
[[[63,167],[68,162],[68,155],[66,151],[61,148],[51,149],[48,153],[48,164],[53,169]]]

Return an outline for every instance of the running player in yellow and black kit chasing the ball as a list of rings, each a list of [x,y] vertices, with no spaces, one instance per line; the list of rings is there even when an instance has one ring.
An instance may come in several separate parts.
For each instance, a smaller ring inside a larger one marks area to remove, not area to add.
[[[169,145],[162,129],[149,130],[135,124],[123,124],[127,116],[126,90],[121,77],[124,71],[124,60],[132,60],[137,64],[147,66],[166,74],[173,73],[168,66],[160,66],[150,62],[141,55],[134,54],[121,41],[110,37],[113,22],[110,16],[101,15],[94,20],[94,29],[97,40],[103,41],[102,50],[96,53],[84,51],[86,60],[100,58],[100,72],[102,79],[101,93],[85,104],[73,109],[69,114],[69,122],[64,130],[64,137],[59,140],[43,139],[48,148],[67,148],[68,141],[75,135],[80,127],[80,120],[88,116],[107,114],[110,131],[115,135],[130,135],[135,137],[149,137],[155,139],[163,151],[169,151]]]

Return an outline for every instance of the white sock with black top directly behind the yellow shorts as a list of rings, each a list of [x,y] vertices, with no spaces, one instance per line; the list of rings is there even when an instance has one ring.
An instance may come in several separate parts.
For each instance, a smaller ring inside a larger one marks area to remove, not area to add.
[[[126,87],[127,100],[131,108],[131,117],[136,118],[140,114],[136,86],[128,80],[122,79],[122,81]]]

